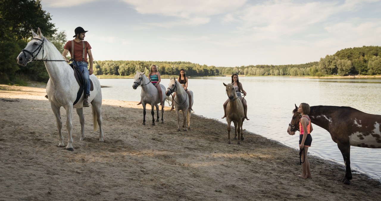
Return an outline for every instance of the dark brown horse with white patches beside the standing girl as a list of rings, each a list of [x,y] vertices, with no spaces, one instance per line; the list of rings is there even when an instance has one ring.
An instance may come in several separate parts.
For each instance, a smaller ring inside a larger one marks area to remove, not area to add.
[[[295,134],[299,130],[299,113],[295,105],[293,117],[287,133]],[[311,122],[331,134],[333,142],[337,143],[346,166],[342,182],[350,184],[352,179],[350,148],[359,146],[366,148],[381,148],[381,115],[367,114],[351,107],[312,106],[309,113]]]

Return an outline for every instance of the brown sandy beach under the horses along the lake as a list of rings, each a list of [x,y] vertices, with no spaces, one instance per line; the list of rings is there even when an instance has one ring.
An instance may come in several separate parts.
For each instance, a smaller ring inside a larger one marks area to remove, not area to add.
[[[147,113],[142,125],[137,102],[103,100],[105,142],[85,108],[86,138],[74,111],[67,151],[45,94],[41,84],[0,85],[0,200],[381,200],[379,179],[354,173],[344,185],[344,166],[314,156],[313,178],[296,177],[298,150],[247,131],[229,145],[226,124],[197,111],[191,130],[178,132],[169,107],[164,124],[150,125]],[[61,118],[67,145],[63,108]]]

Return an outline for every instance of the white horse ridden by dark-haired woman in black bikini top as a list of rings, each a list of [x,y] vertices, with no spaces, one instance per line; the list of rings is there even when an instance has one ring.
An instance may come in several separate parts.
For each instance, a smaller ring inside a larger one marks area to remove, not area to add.
[[[192,105],[193,106],[193,92],[191,90],[188,90],[189,93],[191,93],[192,96]],[[173,103],[174,108],[177,115],[177,130],[180,130],[180,114],[179,111],[182,111],[182,117],[183,117],[183,124],[182,127],[185,131],[187,131],[187,124],[188,129],[191,130],[191,109],[189,109],[189,96],[187,92],[182,88],[180,82],[178,82],[176,79],[170,78],[170,82],[168,84],[168,89],[165,92],[165,95],[169,96],[173,92],[176,92],[176,96],[174,96]]]

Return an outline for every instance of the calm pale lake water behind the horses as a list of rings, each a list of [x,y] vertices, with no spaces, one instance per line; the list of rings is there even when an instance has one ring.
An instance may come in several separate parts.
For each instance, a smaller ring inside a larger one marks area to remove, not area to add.
[[[292,110],[296,104],[350,106],[365,113],[381,115],[381,80],[356,79],[307,79],[290,77],[239,77],[247,92],[248,118],[243,128],[274,139],[298,149],[299,136],[288,135]],[[133,79],[100,79],[104,99],[139,101],[141,88],[133,90]],[[223,82],[230,83],[231,77],[191,77],[189,89],[194,93],[194,113],[204,117],[221,119],[223,103],[227,100]],[[169,79],[161,84],[168,87]],[[298,94],[298,88],[309,90],[306,95]],[[292,95],[297,94],[297,95]],[[166,103],[168,106],[168,102]],[[224,135],[227,132],[223,133]],[[343,157],[330,134],[314,125],[313,142],[309,153],[338,162],[344,167]],[[372,178],[381,178],[381,149],[351,146],[351,167]],[[295,156],[298,157],[298,156]],[[312,163],[313,164],[313,163]],[[343,172],[344,176],[344,172]]]

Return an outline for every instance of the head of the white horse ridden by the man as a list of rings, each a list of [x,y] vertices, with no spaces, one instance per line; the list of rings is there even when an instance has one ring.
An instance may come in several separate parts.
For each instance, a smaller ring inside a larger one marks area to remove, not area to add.
[[[44,59],[47,55],[44,47],[45,37],[42,35],[40,28],[38,28],[37,33],[38,35],[32,31],[32,40],[29,41],[26,47],[21,50],[19,56],[17,56],[17,63],[19,65],[26,66],[27,63],[32,62],[34,59]]]

